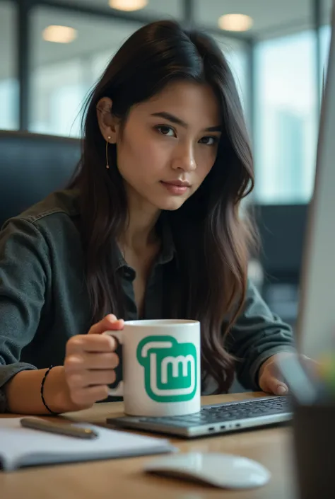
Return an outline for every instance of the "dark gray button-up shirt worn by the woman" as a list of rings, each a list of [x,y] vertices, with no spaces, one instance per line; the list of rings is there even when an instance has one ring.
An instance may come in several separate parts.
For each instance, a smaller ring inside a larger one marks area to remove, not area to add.
[[[90,329],[79,218],[76,193],[64,190],[9,220],[0,232],[0,412],[1,387],[11,377],[23,369],[63,365],[67,340]],[[144,319],[164,317],[163,284],[176,260],[168,226],[162,242],[147,282]],[[123,319],[138,319],[135,272],[121,255],[116,271],[125,295]],[[271,313],[251,282],[228,343],[228,351],[241,359],[237,378],[247,389],[258,388],[257,372],[266,358],[294,350],[290,327]]]

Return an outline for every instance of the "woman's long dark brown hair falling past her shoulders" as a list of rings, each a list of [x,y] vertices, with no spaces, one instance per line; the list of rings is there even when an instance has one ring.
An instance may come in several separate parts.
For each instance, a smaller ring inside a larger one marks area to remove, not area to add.
[[[132,105],[176,80],[211,85],[221,106],[224,130],[216,162],[204,183],[179,210],[167,213],[179,263],[167,316],[201,321],[203,380],[211,375],[217,391],[223,392],[228,391],[234,372],[225,336],[245,301],[253,234],[247,220],[240,217],[240,202],[252,190],[254,178],[233,74],[212,38],[173,21],[151,23],[131,35],[90,93],[83,156],[71,186],[80,191],[93,321],[110,312],[122,317],[122,290],[114,272],[115,241],[127,223],[127,197],[115,146],[110,147],[110,169],[105,168],[105,141],[96,108],[100,98],[111,98],[112,113],[125,123]]]

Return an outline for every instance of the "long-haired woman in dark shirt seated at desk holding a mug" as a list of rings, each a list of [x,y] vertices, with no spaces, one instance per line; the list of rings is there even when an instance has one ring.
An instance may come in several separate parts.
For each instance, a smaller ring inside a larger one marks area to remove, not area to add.
[[[228,391],[236,370],[249,389],[286,393],[276,362],[294,355],[292,333],[247,281],[239,210],[253,183],[216,43],[172,21],[134,33],[90,95],[69,188],[1,231],[1,411],[105,399],[119,358],[101,333],[136,318],[201,321],[204,392]]]

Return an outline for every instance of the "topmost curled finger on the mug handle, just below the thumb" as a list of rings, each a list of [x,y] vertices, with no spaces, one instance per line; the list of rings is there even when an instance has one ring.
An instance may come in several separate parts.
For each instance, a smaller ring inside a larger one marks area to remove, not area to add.
[[[83,352],[114,352],[117,340],[110,335],[76,335],[66,343],[66,357]]]

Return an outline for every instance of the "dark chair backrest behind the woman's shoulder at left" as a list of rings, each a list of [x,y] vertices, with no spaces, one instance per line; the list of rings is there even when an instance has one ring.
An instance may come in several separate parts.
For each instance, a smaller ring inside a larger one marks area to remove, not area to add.
[[[64,188],[81,156],[79,139],[0,131],[0,226]]]

